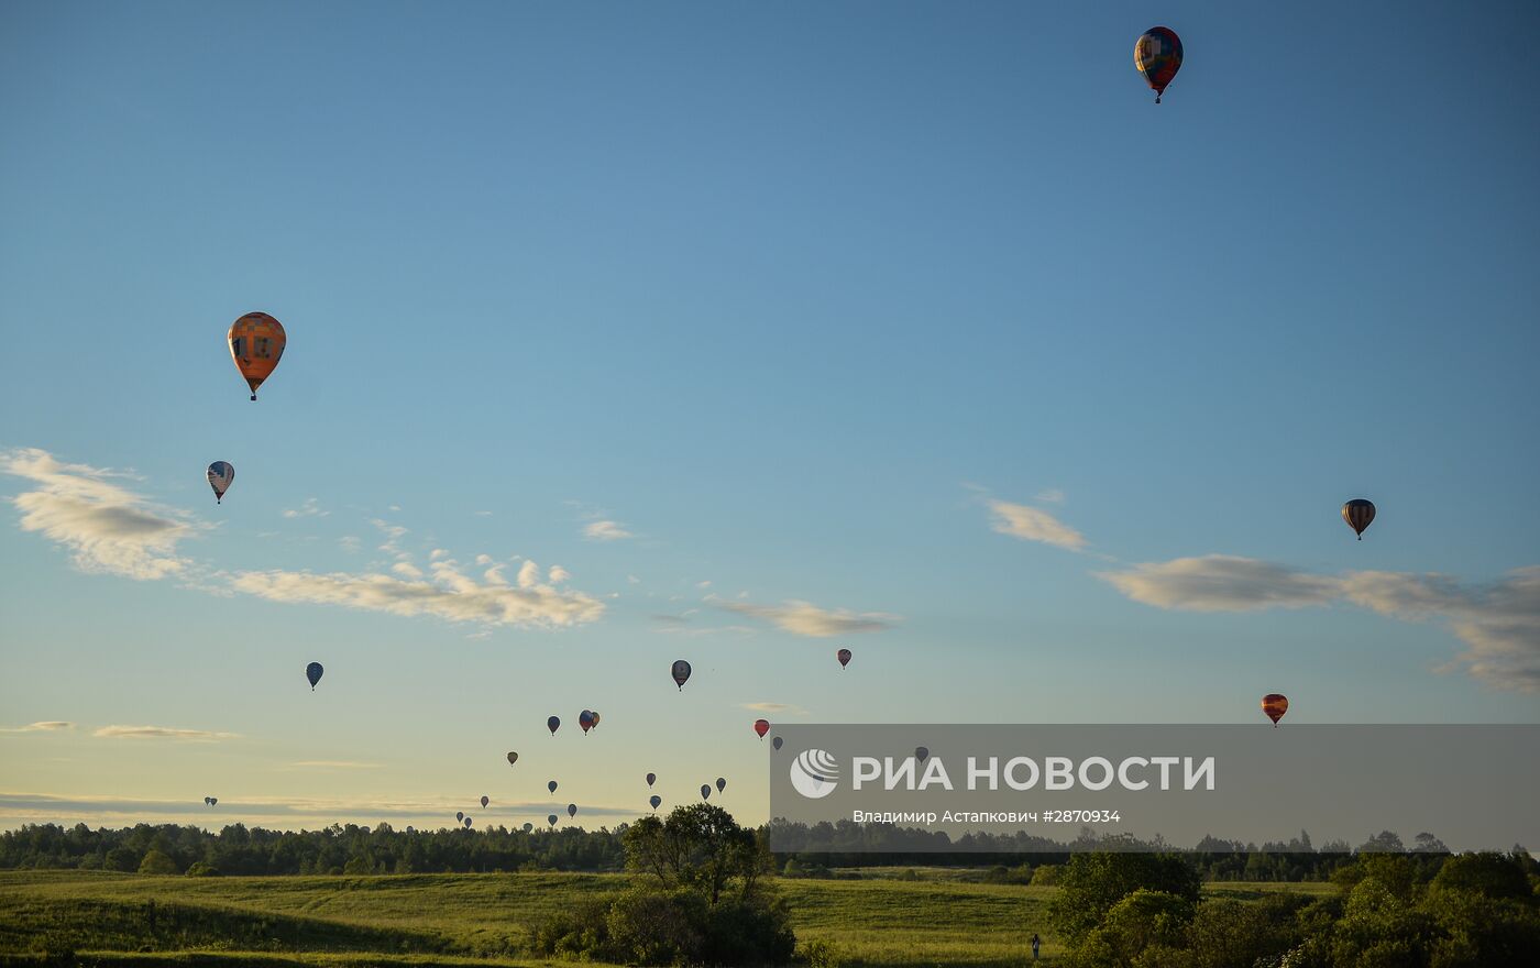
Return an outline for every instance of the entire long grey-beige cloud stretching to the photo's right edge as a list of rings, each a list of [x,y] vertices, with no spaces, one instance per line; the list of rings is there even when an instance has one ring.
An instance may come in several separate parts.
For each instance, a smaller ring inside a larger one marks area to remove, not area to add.
[[[1315,576],[1210,554],[1098,577],[1135,602],[1167,609],[1237,613],[1349,602],[1403,622],[1443,622],[1466,645],[1446,668],[1465,669],[1497,689],[1540,693],[1540,566],[1472,586],[1440,574]]]

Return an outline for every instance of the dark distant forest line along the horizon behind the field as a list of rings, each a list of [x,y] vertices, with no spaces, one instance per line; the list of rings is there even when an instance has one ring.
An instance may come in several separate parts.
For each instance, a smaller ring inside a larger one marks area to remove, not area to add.
[[[176,823],[91,829],[85,823],[28,825],[0,833],[0,868],[103,870],[189,876],[257,874],[428,874],[511,871],[621,871],[625,868],[622,823],[616,829],[437,829],[397,831],[377,826],[333,825],[316,831],[271,831],[240,823],[211,833]],[[761,826],[758,836],[773,850],[775,865],[788,877],[850,877],[841,868],[962,866],[978,868],[987,880],[1053,883],[1060,865],[1087,851],[1173,851],[1164,842],[1126,836],[1095,836],[1083,828],[1076,840],[1056,843],[1016,834],[944,836],[912,828],[856,825]],[[1023,848],[1035,848],[1030,853]],[[1047,848],[1047,850],[1041,850]],[[1195,850],[1180,850],[1206,880],[1327,880],[1355,854],[1408,854],[1437,871],[1448,856],[1432,834],[1411,845],[1389,831],[1357,848],[1334,842],[1320,848],[1304,831],[1286,843],[1240,843],[1206,837]],[[1515,846],[1515,854],[1525,854]]]

